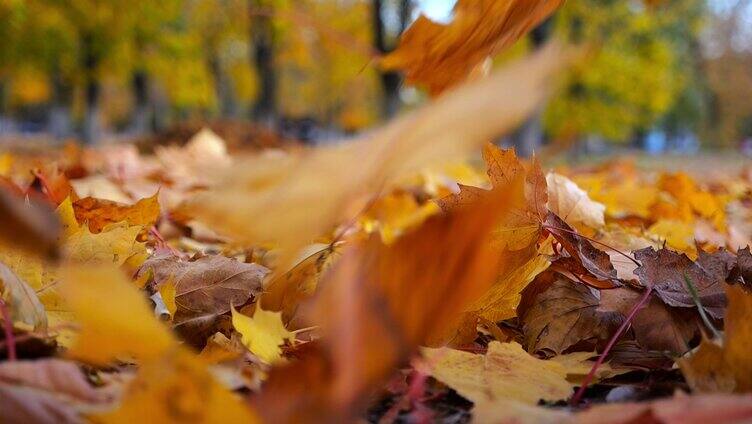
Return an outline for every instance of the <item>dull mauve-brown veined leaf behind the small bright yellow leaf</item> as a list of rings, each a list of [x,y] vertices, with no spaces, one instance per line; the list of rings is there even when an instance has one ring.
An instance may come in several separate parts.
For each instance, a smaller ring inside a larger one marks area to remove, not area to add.
[[[200,346],[206,335],[214,332],[221,315],[261,293],[261,282],[269,271],[218,255],[188,261],[175,255],[158,255],[144,262],[139,275],[145,272],[153,272],[154,291],[168,281],[174,286],[173,325],[183,337]]]

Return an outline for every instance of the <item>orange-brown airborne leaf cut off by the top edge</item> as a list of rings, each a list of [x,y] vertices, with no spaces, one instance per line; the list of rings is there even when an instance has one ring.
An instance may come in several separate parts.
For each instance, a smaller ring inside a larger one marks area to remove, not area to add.
[[[542,22],[563,0],[459,0],[454,20],[438,24],[421,15],[384,57],[385,69],[400,69],[407,82],[433,94],[466,80],[490,55]]]

